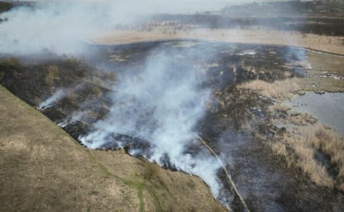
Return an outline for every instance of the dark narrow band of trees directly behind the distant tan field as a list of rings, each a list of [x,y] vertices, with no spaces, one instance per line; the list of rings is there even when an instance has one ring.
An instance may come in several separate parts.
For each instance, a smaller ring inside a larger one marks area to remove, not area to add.
[[[180,22],[212,29],[251,27],[274,30],[299,31],[319,35],[344,36],[344,19],[327,17],[230,17],[224,15],[170,15],[151,17],[154,21]]]

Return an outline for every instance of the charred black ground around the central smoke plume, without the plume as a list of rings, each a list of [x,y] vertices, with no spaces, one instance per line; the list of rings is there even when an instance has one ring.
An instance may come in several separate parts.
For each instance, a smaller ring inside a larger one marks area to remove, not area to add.
[[[80,135],[92,131],[92,124],[108,114],[111,107],[108,95],[118,92],[114,90],[117,80],[120,81],[128,72],[132,77],[140,73],[147,57],[159,56],[155,53],[157,46],[172,52],[171,56],[175,59],[167,65],[174,69],[190,67],[185,66],[190,64],[187,53],[196,52],[192,66],[196,65],[195,68],[204,71],[207,80],[202,86],[213,90],[213,99],[207,104],[207,114],[193,130],[222,155],[226,168],[244,193],[249,209],[336,211],[343,208],[343,192],[340,189],[315,185],[302,169],[297,166],[286,168],[285,159],[271,151],[270,142],[277,142],[287,131],[284,127],[277,127],[272,120],[287,119],[290,114],[285,110],[271,112],[270,106],[275,105],[276,99],[237,86],[257,79],[269,83],[303,79],[309,75],[306,64],[308,52],[273,46],[195,41],[190,46],[185,42],[190,41],[91,46],[92,54],[82,60],[55,55],[39,60],[28,57],[5,59],[0,66],[1,83],[34,107],[39,107],[56,91],[65,89],[66,94],[42,112],[78,139]],[[185,55],[174,51],[185,48],[188,50]],[[58,74],[51,71],[53,66],[57,67]],[[52,84],[47,83],[49,74],[53,74]],[[80,110],[86,113],[75,118],[74,113]],[[143,121],[149,116],[141,115]],[[66,120],[69,120],[67,124]],[[127,145],[124,149],[127,152],[140,149],[141,153],[149,155],[149,140],[116,133],[107,139],[101,149],[117,150],[119,147],[113,140],[125,140]],[[188,147],[188,153],[199,152],[198,145]],[[160,163],[175,170],[169,158]],[[220,171],[218,174],[225,185],[221,201],[235,211],[241,211],[241,202],[224,173]]]

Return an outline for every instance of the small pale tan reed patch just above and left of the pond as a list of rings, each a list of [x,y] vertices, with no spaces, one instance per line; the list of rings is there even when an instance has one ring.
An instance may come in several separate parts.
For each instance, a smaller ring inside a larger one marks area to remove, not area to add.
[[[300,90],[300,79],[284,79],[274,82],[266,82],[260,79],[252,80],[238,85],[238,88],[256,91],[264,96],[285,99]]]

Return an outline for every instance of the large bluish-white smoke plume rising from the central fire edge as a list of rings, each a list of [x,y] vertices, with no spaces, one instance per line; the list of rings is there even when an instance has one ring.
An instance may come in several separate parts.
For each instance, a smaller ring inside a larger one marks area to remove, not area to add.
[[[161,46],[155,51],[158,57],[148,55],[139,74],[126,76],[114,88],[118,92],[112,94],[110,113],[80,140],[99,148],[113,132],[145,139],[150,143],[147,159],[163,165],[168,158],[177,169],[200,176],[218,196],[221,185],[216,173],[221,165],[191,132],[211,95],[210,89],[202,87],[205,76],[190,62],[176,64],[180,55],[188,55],[185,61],[195,61],[193,54],[183,53],[187,48],[165,52]],[[123,144],[119,141],[118,145]],[[192,146],[200,150],[187,152]],[[137,151],[129,153],[142,154]]]

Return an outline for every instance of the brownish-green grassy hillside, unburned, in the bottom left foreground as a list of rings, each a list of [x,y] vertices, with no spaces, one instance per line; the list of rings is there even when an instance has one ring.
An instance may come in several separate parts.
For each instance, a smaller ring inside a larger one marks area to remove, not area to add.
[[[1,211],[226,211],[201,179],[81,147],[0,85]]]

